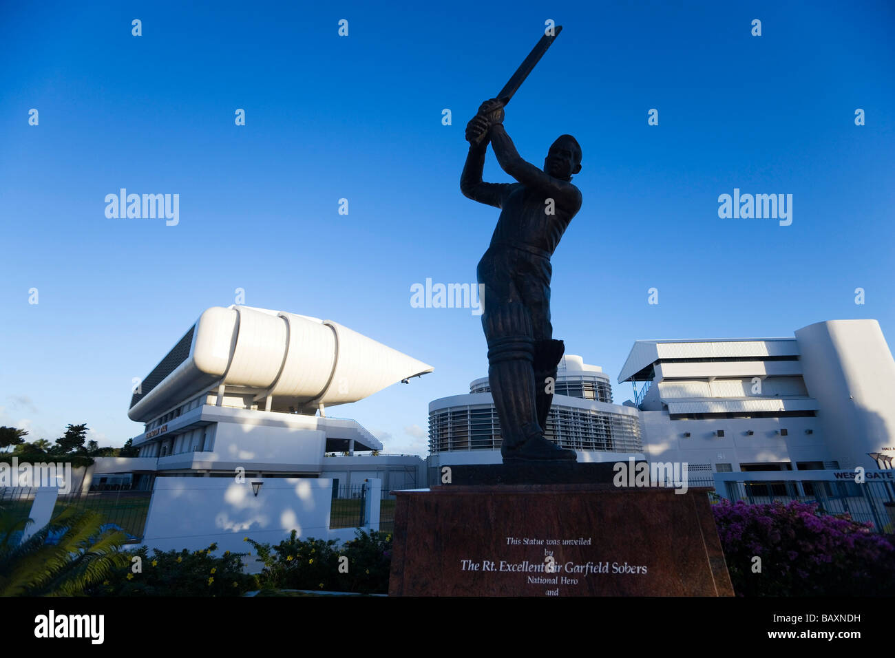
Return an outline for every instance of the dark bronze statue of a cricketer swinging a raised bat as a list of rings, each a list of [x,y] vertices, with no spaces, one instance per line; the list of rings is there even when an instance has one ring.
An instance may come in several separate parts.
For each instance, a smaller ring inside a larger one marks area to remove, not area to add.
[[[550,256],[581,208],[581,192],[571,183],[581,171],[581,147],[571,135],[560,135],[541,170],[519,156],[503,126],[504,106],[559,30],[541,38],[498,98],[482,103],[466,125],[470,147],[460,189],[473,201],[500,209],[477,274],[484,285],[482,328],[505,464],[576,459],[575,450],[559,448],[544,438],[544,430],[565,350],[561,340],[553,339],[550,324]],[[516,183],[482,182],[489,142]]]

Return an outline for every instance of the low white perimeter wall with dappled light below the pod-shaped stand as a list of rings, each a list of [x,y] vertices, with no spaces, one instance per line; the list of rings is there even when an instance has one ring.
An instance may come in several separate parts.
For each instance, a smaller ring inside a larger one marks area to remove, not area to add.
[[[256,497],[252,482],[261,482]],[[381,482],[371,482],[368,507],[379,522]],[[243,542],[279,543],[294,529],[307,539],[354,537],[354,529],[329,530],[332,480],[317,478],[159,477],[155,482],[143,541],[150,549],[251,552]],[[368,518],[370,515],[368,515]]]

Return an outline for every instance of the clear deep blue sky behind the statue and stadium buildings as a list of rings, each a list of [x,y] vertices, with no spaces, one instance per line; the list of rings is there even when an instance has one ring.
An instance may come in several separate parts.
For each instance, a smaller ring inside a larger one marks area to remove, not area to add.
[[[465,123],[547,19],[505,125],[539,166],[560,133],[584,150],[553,259],[567,352],[614,381],[638,338],[874,318],[895,340],[889,2],[84,5],[0,5],[0,424],[29,440],[140,433],[132,378],[242,287],[433,365],[331,410],[424,455],[428,403],[487,360],[478,317],[410,286],[474,281],[498,211],[459,191]],[[485,178],[508,180],[491,153]],[[178,193],[179,225],[106,218],[122,187]],[[792,194],[792,225],[720,219],[735,187]]]

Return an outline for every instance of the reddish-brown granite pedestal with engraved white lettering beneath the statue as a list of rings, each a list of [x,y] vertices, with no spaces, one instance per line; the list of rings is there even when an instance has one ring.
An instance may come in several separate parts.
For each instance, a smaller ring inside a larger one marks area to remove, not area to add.
[[[730,596],[704,488],[395,491],[392,596]]]

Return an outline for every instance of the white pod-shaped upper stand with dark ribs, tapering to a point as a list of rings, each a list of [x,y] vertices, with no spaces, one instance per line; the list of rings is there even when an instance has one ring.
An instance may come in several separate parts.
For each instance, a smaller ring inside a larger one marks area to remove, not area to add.
[[[356,402],[432,367],[332,320],[213,306],[142,381],[128,416],[147,422],[217,384],[313,409]]]

